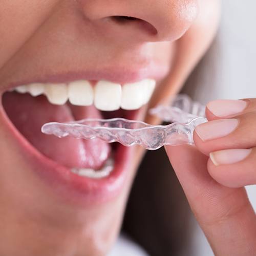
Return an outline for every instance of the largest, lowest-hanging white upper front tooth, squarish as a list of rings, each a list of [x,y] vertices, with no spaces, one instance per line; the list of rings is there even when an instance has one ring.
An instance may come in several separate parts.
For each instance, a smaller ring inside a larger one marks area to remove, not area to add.
[[[94,104],[99,110],[118,110],[120,108],[121,96],[121,84],[109,81],[99,81],[95,86]]]

